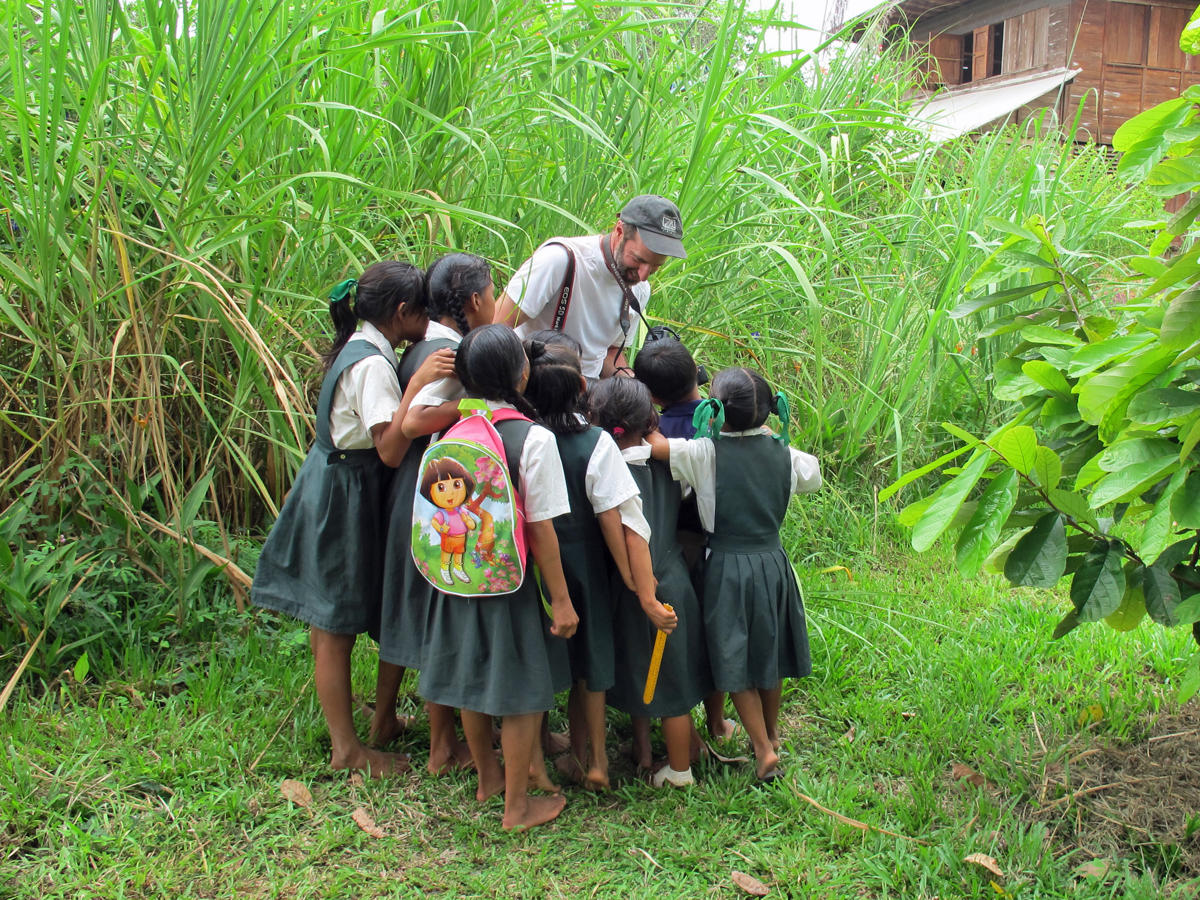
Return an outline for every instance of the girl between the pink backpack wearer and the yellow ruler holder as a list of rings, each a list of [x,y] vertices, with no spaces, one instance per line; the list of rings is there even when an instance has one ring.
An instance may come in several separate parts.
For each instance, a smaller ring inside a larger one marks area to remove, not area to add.
[[[571,754],[559,768],[586,787],[607,788],[605,691],[614,677],[610,578],[614,563],[623,581],[634,587],[623,522],[642,533],[643,540],[649,530],[637,485],[617,444],[582,414],[587,382],[578,354],[568,346],[536,340],[527,341],[524,348],[530,366],[524,394],[536,407],[539,422],[554,433],[571,504],[568,515],[554,520],[563,571],[580,616],[580,628],[568,641]]]

